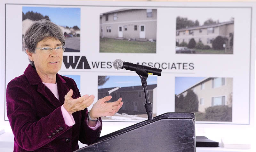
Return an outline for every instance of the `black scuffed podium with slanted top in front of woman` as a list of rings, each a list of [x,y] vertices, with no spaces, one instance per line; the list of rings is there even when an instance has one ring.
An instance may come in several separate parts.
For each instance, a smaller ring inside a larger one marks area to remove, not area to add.
[[[75,152],[195,152],[195,114],[165,113],[100,137]]]

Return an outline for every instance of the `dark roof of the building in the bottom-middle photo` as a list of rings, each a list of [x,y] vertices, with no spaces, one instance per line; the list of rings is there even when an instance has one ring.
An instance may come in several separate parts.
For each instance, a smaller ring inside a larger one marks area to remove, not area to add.
[[[111,88],[103,88],[103,89],[98,89],[98,92],[108,92],[109,90],[112,90],[116,87],[111,87]],[[156,88],[156,84],[154,85],[148,85],[148,90],[153,90]],[[143,91],[142,86],[126,86],[126,87],[120,87],[118,90],[115,92],[124,92],[124,91]]]

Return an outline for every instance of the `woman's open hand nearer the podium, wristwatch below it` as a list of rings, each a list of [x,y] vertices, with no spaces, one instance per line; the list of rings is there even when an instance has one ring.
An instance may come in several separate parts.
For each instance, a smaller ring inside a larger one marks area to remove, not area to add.
[[[92,109],[90,111],[90,116],[92,117],[92,119],[103,116],[113,116],[117,113],[117,111],[123,106],[124,102],[121,102],[122,98],[119,98],[117,101],[114,102],[107,102],[111,98],[112,97],[110,95],[101,98],[92,106]]]

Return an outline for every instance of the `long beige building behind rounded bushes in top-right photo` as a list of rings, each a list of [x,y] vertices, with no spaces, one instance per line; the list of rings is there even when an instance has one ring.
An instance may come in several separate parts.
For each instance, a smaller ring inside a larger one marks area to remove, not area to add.
[[[216,23],[211,25],[194,26],[176,30],[176,42],[188,43],[194,38],[196,43],[201,41],[204,45],[212,47],[212,41],[221,36],[226,39],[226,47],[230,48],[230,39],[234,33],[234,21]]]

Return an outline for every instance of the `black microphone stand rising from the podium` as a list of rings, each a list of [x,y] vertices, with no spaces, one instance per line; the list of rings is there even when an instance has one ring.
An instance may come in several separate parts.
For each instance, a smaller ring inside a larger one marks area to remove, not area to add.
[[[148,73],[146,72],[145,68],[140,65],[137,66],[136,73],[140,76],[140,79],[141,79],[141,85],[143,86],[145,99],[146,99],[145,108],[148,114],[148,122],[151,122],[153,121],[153,116],[152,116],[153,110],[152,110],[152,104],[149,102],[149,98],[148,98],[148,88],[147,88]]]

